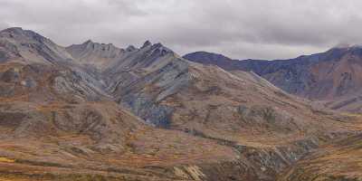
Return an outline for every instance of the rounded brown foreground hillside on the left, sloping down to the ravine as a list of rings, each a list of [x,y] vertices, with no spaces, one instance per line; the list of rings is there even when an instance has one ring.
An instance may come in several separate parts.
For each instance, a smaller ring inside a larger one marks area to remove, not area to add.
[[[236,158],[214,140],[144,124],[77,68],[55,65],[0,64],[0,179],[188,180],[197,164]]]

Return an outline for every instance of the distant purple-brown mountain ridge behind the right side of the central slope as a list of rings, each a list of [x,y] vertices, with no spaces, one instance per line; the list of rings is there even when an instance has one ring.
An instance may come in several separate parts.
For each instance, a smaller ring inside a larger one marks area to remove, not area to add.
[[[336,47],[291,60],[231,60],[210,52],[194,52],[187,60],[214,64],[227,71],[253,71],[291,94],[323,100],[333,110],[361,112],[362,48]]]

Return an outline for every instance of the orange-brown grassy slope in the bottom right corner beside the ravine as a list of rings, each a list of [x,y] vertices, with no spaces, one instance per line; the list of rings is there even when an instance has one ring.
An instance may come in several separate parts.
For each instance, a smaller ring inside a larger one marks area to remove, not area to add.
[[[303,158],[279,180],[344,180],[362,178],[361,135],[339,140]]]

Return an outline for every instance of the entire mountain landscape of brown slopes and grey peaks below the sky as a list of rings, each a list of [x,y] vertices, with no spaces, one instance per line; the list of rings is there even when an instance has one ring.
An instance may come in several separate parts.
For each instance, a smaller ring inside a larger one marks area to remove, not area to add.
[[[359,52],[234,61],[5,29],[0,180],[355,179],[303,163],[356,148]]]

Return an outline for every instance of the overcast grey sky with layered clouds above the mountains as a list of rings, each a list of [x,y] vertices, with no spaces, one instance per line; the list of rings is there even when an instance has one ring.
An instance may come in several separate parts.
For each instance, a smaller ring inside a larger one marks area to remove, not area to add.
[[[175,52],[286,59],[362,43],[360,0],[0,0],[0,28],[55,43],[161,42]]]

